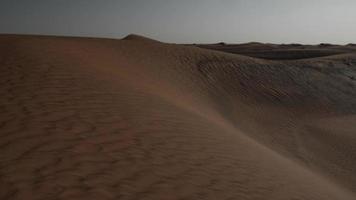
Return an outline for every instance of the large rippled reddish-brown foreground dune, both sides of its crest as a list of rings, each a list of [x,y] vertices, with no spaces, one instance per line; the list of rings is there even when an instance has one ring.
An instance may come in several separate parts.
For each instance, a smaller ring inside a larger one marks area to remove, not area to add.
[[[356,56],[0,36],[0,199],[355,199]]]

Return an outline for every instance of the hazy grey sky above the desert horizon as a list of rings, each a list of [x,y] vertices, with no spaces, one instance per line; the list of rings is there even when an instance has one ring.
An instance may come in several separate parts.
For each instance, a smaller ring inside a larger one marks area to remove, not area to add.
[[[0,0],[0,33],[356,43],[356,0]]]

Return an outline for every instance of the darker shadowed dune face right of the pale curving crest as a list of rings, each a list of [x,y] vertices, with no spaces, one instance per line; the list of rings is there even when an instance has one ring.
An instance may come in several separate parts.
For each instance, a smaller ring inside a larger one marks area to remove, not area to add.
[[[354,191],[356,65],[351,63],[355,58],[249,63],[220,58],[198,66],[214,88],[210,98],[225,119],[276,152]],[[340,119],[347,123],[336,123]],[[327,121],[329,128],[320,121]]]

